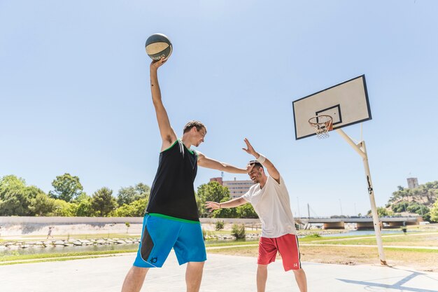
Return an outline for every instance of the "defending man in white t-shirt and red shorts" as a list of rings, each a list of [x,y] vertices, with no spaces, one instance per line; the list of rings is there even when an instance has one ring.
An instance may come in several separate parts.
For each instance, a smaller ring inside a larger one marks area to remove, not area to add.
[[[281,254],[285,271],[295,274],[299,291],[307,292],[306,273],[299,260],[299,246],[295,221],[290,210],[288,189],[283,178],[269,159],[257,153],[248,139],[244,151],[256,160],[248,163],[248,174],[255,183],[245,195],[227,202],[206,202],[207,209],[232,208],[250,202],[262,221],[262,235],[257,258],[257,292],[264,292],[267,281],[267,265],[274,262],[277,252]],[[267,168],[269,176],[264,172]]]

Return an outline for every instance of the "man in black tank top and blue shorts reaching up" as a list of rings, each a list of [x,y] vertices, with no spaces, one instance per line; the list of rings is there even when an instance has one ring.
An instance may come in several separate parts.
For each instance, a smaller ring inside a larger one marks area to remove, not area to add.
[[[150,189],[139,251],[123,282],[122,292],[139,292],[150,267],[162,267],[173,248],[178,263],[188,263],[185,281],[188,292],[198,292],[206,250],[197,211],[193,181],[197,166],[244,174],[248,169],[207,158],[191,146],[204,142],[206,127],[192,120],[178,139],[162,104],[157,70],[166,60],[150,64],[150,90],[157,114],[162,146],[157,174]]]

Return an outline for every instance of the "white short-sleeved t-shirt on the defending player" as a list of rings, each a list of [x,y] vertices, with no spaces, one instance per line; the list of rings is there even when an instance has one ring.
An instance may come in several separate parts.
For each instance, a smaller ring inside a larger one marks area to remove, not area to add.
[[[288,189],[281,176],[280,183],[268,176],[263,188],[256,183],[242,197],[253,205],[262,221],[262,237],[275,238],[297,233]]]

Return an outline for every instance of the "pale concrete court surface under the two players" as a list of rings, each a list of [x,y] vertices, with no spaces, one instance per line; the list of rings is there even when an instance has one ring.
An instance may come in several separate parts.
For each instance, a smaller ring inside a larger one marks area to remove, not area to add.
[[[255,292],[256,258],[209,254],[201,292]],[[1,292],[119,292],[134,254],[0,266]],[[438,273],[406,267],[303,263],[309,292],[438,292]],[[268,291],[298,291],[281,260],[268,269]],[[185,265],[171,253],[164,267],[151,269],[142,292],[184,292]]]

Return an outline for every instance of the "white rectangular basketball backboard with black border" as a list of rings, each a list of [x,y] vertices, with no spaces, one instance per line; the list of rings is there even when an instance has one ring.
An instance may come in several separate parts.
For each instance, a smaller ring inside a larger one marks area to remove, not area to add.
[[[297,140],[315,135],[309,125],[313,116],[332,116],[333,130],[372,119],[365,75],[297,99],[292,108]]]

